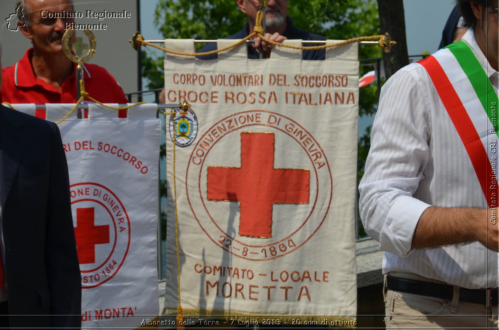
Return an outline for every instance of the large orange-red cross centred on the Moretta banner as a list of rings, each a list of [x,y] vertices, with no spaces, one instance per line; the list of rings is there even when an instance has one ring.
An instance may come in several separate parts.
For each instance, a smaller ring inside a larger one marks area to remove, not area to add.
[[[241,167],[208,167],[208,199],[240,202],[239,235],[272,237],[273,204],[307,204],[308,169],[274,168],[275,135],[241,133]]]

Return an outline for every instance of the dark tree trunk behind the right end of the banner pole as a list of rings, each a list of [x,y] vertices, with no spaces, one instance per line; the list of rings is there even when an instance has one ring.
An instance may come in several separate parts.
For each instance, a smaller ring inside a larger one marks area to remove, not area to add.
[[[386,79],[397,70],[409,64],[405,32],[404,3],[402,0],[378,0],[379,25],[381,33],[388,32],[396,45],[389,53],[383,52]]]

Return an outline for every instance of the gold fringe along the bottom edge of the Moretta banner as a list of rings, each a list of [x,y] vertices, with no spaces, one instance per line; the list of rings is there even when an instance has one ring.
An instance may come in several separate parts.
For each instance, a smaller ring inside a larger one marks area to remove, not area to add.
[[[176,316],[176,308],[165,307],[162,315]],[[213,319],[224,320],[228,326],[231,325],[287,325],[287,326],[313,326],[328,325],[330,328],[357,328],[357,320],[348,317],[328,316],[328,315],[265,315],[265,314],[242,314],[241,312],[217,311],[217,310],[199,310],[184,309],[183,314],[186,318],[206,316]],[[231,324],[234,321],[233,324]],[[184,323],[190,322],[189,320]],[[186,324],[190,326],[200,325],[194,323]]]

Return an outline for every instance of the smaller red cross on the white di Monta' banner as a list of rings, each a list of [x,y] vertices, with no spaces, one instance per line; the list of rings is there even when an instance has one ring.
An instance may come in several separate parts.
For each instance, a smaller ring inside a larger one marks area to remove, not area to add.
[[[80,264],[95,263],[95,245],[109,243],[109,225],[96,226],[94,218],[93,207],[76,209],[74,236]]]

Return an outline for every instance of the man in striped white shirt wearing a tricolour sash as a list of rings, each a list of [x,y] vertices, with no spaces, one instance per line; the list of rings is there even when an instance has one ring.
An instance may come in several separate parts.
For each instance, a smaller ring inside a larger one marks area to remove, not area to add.
[[[499,0],[456,2],[463,41],[383,86],[359,185],[387,328],[498,329]]]

